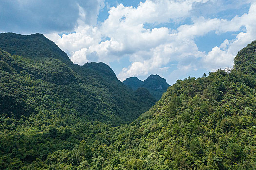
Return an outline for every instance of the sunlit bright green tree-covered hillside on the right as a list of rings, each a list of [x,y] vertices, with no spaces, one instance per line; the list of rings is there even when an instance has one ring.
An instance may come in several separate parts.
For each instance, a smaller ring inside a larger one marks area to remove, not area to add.
[[[256,61],[254,44],[241,51],[243,62]],[[245,74],[248,65],[236,66],[241,52],[230,73],[177,80],[148,112],[116,131],[98,154],[101,168],[255,170],[256,79],[252,70]]]

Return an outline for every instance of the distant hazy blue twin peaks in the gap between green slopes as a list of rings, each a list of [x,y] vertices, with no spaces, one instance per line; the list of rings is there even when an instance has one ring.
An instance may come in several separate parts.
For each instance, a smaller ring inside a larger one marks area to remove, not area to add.
[[[140,87],[146,88],[156,100],[159,100],[167,88],[170,86],[164,78],[159,75],[150,75],[144,82],[137,77],[129,77],[123,81],[124,85],[129,86],[133,90]]]

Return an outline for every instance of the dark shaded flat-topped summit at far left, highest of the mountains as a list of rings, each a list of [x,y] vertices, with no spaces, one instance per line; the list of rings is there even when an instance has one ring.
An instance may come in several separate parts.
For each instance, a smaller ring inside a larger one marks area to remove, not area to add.
[[[31,35],[0,33],[0,48],[11,55],[31,59],[56,58],[66,64],[72,63],[65,52],[39,33]]]

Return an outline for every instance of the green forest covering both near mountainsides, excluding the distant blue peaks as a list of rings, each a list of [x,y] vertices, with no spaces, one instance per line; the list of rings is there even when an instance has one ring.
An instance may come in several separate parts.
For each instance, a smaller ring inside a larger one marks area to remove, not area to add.
[[[42,34],[0,34],[1,170],[256,170],[256,41],[161,99]]]

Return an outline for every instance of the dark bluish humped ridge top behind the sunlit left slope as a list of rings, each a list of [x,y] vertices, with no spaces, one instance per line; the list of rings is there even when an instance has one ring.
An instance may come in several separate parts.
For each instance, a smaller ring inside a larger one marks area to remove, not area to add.
[[[23,56],[32,60],[59,59],[68,67],[76,70],[77,72],[86,72],[88,69],[91,69],[109,78],[116,78],[113,70],[103,63],[93,62],[90,64],[89,62],[82,66],[73,64],[64,51],[62,51],[54,42],[40,33],[31,35],[0,33],[0,48],[9,52],[11,55]],[[99,68],[101,68],[101,71]]]

